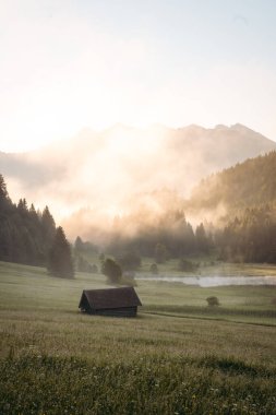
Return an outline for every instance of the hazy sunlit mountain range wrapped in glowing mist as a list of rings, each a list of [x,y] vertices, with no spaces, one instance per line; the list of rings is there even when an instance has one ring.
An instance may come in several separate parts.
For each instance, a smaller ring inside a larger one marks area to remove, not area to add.
[[[189,198],[203,177],[272,150],[274,141],[241,124],[143,130],[117,124],[83,130],[40,151],[0,153],[0,173],[13,199],[23,194],[37,206],[47,199],[57,220],[67,217],[70,232],[73,213],[83,228],[89,222],[106,226],[107,217],[136,209],[142,194],[169,189]],[[147,203],[153,210],[161,204],[154,198]]]

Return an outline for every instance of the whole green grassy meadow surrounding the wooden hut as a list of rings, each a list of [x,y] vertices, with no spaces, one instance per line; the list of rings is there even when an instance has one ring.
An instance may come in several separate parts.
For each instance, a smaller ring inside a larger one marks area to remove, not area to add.
[[[141,281],[137,318],[80,313],[100,287],[0,262],[0,414],[276,414],[275,286]]]

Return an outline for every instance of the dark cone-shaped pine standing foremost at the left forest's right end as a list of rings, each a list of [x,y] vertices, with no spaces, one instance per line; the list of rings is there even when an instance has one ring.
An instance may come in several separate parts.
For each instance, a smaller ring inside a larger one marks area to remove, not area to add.
[[[52,246],[49,252],[48,271],[62,278],[74,277],[73,259],[70,244],[67,240],[61,226],[57,228]]]

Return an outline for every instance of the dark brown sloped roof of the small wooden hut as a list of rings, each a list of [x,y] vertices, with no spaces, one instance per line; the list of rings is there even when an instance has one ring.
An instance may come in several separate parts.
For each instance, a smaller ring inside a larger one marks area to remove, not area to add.
[[[133,287],[84,289],[79,308],[84,297],[95,310],[142,306]]]

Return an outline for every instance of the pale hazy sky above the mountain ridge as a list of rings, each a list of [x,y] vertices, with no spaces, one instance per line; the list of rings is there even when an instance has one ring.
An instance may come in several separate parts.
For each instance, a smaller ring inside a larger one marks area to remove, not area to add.
[[[0,0],[0,151],[116,122],[276,140],[276,0]]]

